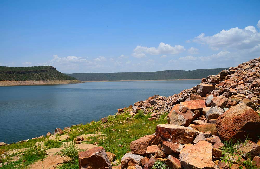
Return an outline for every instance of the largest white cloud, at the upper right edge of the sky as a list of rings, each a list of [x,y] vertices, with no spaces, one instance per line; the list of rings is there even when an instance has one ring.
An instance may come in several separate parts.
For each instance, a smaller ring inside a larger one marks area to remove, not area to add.
[[[219,48],[249,49],[260,42],[260,33],[253,26],[247,26],[244,29],[236,27],[222,30],[213,36],[205,36],[202,33],[195,37],[193,42],[208,44],[214,50],[219,50]]]

